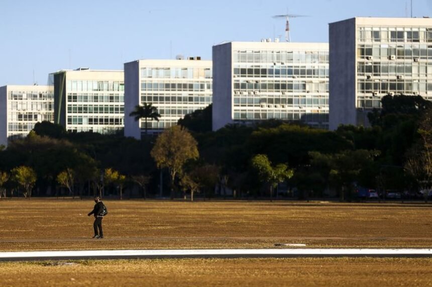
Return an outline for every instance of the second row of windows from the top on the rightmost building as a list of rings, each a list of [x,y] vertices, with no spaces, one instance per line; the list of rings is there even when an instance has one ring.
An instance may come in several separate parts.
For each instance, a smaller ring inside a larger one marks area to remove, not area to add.
[[[432,59],[432,45],[358,45],[360,59]]]

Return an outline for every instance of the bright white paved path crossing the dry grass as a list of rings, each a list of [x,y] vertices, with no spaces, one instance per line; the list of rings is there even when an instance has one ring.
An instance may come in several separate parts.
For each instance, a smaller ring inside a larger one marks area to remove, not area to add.
[[[243,257],[432,257],[432,249],[286,248],[286,249],[159,249],[70,250],[0,252],[0,261],[138,259],[138,258],[243,258]]]

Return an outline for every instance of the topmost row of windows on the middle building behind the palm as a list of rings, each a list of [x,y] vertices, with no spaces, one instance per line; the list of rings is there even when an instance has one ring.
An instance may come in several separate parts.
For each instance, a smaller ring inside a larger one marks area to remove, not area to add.
[[[211,79],[210,68],[141,68],[141,78]]]

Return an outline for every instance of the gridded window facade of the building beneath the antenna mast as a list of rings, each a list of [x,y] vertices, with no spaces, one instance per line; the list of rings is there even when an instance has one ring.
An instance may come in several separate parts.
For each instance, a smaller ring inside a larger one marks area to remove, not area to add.
[[[233,50],[234,121],[329,125],[329,51]]]

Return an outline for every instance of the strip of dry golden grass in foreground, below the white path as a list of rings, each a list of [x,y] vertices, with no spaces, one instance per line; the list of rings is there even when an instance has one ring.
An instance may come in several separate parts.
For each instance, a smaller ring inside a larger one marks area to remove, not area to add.
[[[1,286],[432,286],[431,258],[165,259],[0,263]]]

